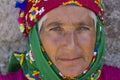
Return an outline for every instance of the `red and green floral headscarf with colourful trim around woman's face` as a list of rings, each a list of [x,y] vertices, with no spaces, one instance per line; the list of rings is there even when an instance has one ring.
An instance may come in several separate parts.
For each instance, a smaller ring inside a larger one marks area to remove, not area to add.
[[[85,7],[97,16],[93,59],[88,68],[74,78],[66,78],[60,73],[42,48],[38,34],[38,21],[47,12],[60,5]],[[20,8],[18,22],[20,31],[28,39],[28,48],[22,53],[16,51],[12,54],[8,66],[9,72],[22,68],[29,80],[97,80],[99,78],[105,51],[102,0],[24,0],[17,1],[16,7]]]

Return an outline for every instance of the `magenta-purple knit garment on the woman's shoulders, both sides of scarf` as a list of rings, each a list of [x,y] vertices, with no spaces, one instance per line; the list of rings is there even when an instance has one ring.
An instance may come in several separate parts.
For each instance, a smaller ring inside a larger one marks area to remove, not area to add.
[[[17,72],[11,72],[6,75],[0,74],[0,80],[28,80],[22,69]],[[120,69],[112,66],[104,65],[99,80],[120,80]]]

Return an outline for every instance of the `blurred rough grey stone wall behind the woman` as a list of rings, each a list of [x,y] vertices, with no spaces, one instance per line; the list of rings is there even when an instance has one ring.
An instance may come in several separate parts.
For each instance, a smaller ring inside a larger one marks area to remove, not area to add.
[[[22,0],[21,0],[22,1]],[[0,73],[6,73],[13,51],[26,50],[26,39],[19,31],[16,0],[0,0]],[[120,68],[120,0],[104,0],[106,54],[104,63]]]

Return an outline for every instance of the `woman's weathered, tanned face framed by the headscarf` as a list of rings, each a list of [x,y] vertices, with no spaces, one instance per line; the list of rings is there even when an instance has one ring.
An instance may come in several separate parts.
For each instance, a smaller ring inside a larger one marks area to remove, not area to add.
[[[60,6],[47,14],[40,39],[50,59],[67,77],[81,74],[90,64],[96,39],[90,11]]]

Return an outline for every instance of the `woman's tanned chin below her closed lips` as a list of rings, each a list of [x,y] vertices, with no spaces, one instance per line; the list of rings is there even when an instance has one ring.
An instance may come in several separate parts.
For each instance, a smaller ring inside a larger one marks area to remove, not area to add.
[[[59,60],[56,67],[59,69],[61,74],[66,77],[76,77],[83,73],[83,71],[89,66],[84,59],[76,60]]]

